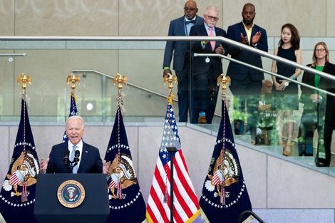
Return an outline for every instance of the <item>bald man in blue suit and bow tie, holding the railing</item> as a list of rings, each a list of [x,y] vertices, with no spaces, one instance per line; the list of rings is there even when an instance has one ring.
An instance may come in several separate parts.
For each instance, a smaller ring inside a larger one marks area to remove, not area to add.
[[[172,20],[168,36],[189,36],[190,28],[194,25],[204,23],[204,19],[197,16],[197,3],[186,1],[184,6],[185,15]],[[187,113],[190,110],[190,52],[187,41],[168,41],[165,46],[163,77],[168,73],[172,74],[170,64],[173,53],[173,70],[178,78],[178,108],[179,121],[187,122]]]

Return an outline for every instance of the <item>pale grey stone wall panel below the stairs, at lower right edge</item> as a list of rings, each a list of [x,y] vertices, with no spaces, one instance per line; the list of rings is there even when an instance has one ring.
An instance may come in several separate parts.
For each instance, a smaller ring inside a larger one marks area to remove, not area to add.
[[[321,175],[277,157],[269,157],[267,208],[333,208],[334,177]],[[317,179],[317,180],[316,180]],[[325,193],[319,196],[319,192]],[[311,202],[312,201],[312,202]]]

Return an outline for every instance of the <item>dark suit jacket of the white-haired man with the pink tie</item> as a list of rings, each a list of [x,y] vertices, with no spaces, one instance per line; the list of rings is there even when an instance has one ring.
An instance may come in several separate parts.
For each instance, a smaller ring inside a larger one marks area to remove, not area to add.
[[[222,28],[215,28],[216,36],[226,36],[226,31]],[[205,25],[193,26],[190,31],[190,36],[208,36]],[[215,49],[220,46],[223,46],[225,50],[225,55],[227,55],[227,50],[225,49],[225,44],[222,42],[215,42]],[[215,53],[215,50],[212,51],[212,46],[210,42],[205,45],[205,48],[202,48],[201,41],[194,41],[192,43],[192,54],[193,53]],[[210,62],[205,61],[206,57],[204,56],[193,56],[192,55],[192,75],[197,75],[200,73],[206,73],[208,69],[213,66],[215,74],[220,76],[222,74],[222,62],[220,57],[211,57]]]

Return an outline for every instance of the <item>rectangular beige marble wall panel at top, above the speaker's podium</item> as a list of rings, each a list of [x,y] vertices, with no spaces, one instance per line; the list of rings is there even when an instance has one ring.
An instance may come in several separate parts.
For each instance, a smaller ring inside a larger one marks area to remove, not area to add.
[[[118,36],[118,1],[15,1],[17,36]]]

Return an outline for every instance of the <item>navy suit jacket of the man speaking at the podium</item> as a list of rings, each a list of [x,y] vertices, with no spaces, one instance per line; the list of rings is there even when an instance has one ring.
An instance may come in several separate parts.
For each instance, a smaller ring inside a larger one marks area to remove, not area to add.
[[[64,164],[64,154],[68,150],[68,142],[54,145],[49,155],[46,173],[72,173],[70,167]],[[100,158],[98,148],[83,142],[83,152],[81,153],[78,173],[102,173],[103,162]]]

